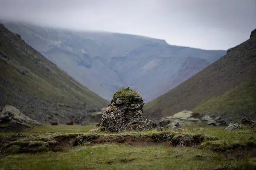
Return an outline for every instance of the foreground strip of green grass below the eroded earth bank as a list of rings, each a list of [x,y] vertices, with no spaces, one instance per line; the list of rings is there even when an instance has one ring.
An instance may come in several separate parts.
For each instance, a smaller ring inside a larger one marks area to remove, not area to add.
[[[199,170],[217,167],[246,167],[255,163],[250,159],[226,160],[224,156],[187,147],[163,146],[129,147],[101,145],[76,147],[61,153],[20,154],[0,159],[5,169],[26,170],[83,170],[83,169],[176,169]],[[254,160],[255,161],[255,160]]]

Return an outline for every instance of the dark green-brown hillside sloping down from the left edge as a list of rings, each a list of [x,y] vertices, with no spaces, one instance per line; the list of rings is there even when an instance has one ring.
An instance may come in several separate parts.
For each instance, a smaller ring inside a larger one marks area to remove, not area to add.
[[[65,122],[108,103],[0,24],[0,110],[13,105],[39,122]]]

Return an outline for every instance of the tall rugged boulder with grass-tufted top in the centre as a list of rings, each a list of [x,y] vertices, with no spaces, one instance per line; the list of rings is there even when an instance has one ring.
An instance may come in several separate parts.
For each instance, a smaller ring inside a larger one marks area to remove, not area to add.
[[[100,126],[108,132],[156,127],[154,122],[142,115],[143,105],[144,101],[139,92],[122,88],[113,95],[113,99],[102,115]]]

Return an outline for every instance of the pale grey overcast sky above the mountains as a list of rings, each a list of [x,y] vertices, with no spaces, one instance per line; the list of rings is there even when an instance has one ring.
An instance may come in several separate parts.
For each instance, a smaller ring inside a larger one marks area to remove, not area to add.
[[[227,50],[256,28],[256,0],[0,0],[0,18]]]

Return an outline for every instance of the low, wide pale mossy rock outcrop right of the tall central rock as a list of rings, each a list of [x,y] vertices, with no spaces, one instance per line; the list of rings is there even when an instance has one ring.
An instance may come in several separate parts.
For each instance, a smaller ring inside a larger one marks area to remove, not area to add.
[[[183,126],[189,125],[227,125],[220,117],[213,118],[207,114],[194,113],[192,111],[181,111],[173,116],[168,116],[160,119],[159,125],[162,127],[176,127],[177,123]]]

